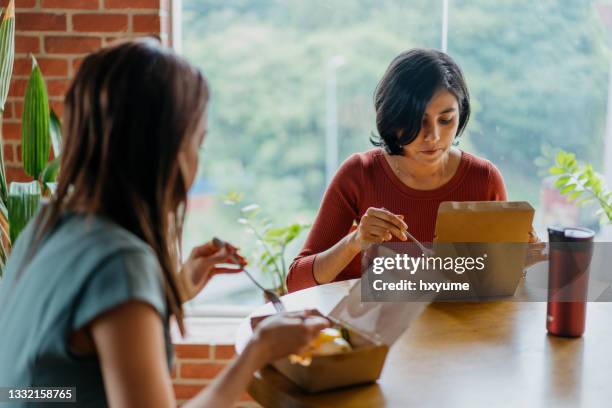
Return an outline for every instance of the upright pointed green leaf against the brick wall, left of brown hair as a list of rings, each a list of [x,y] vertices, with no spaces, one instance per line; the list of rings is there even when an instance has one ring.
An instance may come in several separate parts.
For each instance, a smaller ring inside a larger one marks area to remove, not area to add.
[[[40,67],[32,56],[32,73],[28,80],[21,120],[23,169],[38,180],[49,160],[49,101],[47,85]]]

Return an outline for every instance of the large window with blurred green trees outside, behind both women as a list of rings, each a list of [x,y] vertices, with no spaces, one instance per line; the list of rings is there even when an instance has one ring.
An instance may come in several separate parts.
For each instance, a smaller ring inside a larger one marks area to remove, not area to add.
[[[535,164],[542,147],[603,166],[610,43],[600,4],[448,1],[447,52],[473,106],[459,148],[491,160],[509,198],[536,207],[540,234],[551,219]],[[182,52],[212,89],[185,254],[212,236],[251,253],[239,208],[223,204],[232,191],[279,225],[311,223],[326,165],[371,148],[372,96],[387,65],[409,48],[439,49],[442,14],[443,0],[183,0]],[[597,228],[589,211],[572,216]],[[287,249],[289,263],[306,235]],[[262,302],[237,274],[214,278],[191,306]]]

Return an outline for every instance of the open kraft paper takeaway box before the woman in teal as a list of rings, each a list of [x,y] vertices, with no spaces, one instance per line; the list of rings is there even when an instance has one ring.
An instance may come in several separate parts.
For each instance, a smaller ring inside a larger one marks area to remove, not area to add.
[[[357,281],[326,316],[348,330],[351,351],[313,356],[308,366],[291,363],[289,358],[272,365],[307,392],[374,382],[380,377],[389,347],[428,303],[362,303],[361,281]],[[265,317],[253,317],[251,326]]]

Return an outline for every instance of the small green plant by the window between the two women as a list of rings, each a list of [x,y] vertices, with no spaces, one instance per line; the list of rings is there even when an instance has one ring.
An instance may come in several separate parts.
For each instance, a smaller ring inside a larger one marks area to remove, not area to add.
[[[229,193],[223,198],[226,205],[236,205],[242,201],[244,195]],[[252,258],[260,270],[274,279],[274,288],[279,295],[287,293],[287,261],[285,251],[287,246],[309,228],[308,224],[292,223],[286,226],[274,226],[268,219],[261,216],[258,204],[250,204],[240,209],[241,217],[238,222],[246,226],[258,244]]]

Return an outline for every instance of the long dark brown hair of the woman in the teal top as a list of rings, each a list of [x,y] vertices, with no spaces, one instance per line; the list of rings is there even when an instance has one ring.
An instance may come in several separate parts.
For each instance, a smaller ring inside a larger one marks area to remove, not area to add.
[[[153,39],[87,56],[65,99],[57,190],[35,242],[64,210],[102,215],[151,246],[183,331],[177,279],[187,186],[179,153],[203,118],[204,76]]]

